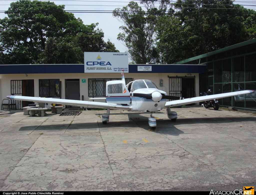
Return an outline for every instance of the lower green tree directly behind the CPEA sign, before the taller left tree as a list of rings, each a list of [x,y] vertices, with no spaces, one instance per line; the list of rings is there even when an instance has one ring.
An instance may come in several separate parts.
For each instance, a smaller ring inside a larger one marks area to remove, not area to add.
[[[104,33],[87,25],[86,33],[79,32],[76,36],[49,38],[44,51],[39,55],[41,63],[84,63],[84,51],[87,52],[119,52],[108,40],[104,42]]]

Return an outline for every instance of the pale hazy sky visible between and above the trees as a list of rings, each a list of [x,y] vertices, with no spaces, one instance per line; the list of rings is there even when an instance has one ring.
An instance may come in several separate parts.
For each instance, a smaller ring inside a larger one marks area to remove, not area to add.
[[[113,1],[113,2],[104,2]],[[175,0],[174,0],[175,1]],[[0,0],[0,10],[8,9],[13,0]],[[98,0],[97,1],[53,1],[56,5],[66,5],[65,10],[114,10],[126,6],[129,0]],[[139,2],[139,1],[136,1]],[[248,9],[256,10],[256,2],[253,0],[238,0],[234,4],[244,5]],[[76,18],[81,18],[84,24],[99,23],[98,28],[104,32],[104,40],[115,44],[116,49],[120,52],[125,52],[125,46],[117,40],[117,35],[121,32],[119,29],[123,25],[121,21],[114,18],[111,13],[74,13]],[[6,14],[0,13],[0,18],[7,17]]]

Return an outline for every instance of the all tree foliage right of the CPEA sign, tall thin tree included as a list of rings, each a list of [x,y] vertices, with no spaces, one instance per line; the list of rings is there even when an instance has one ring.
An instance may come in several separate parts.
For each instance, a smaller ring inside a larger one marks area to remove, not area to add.
[[[113,16],[124,26],[118,35],[136,63],[174,63],[256,37],[256,12],[233,0],[141,0]]]

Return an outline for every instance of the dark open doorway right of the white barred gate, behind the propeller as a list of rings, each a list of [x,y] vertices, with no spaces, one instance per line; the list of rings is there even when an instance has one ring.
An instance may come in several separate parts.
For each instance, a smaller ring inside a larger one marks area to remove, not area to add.
[[[181,78],[182,88],[181,93],[182,97],[191,98],[195,97],[195,78],[194,77],[183,77]]]

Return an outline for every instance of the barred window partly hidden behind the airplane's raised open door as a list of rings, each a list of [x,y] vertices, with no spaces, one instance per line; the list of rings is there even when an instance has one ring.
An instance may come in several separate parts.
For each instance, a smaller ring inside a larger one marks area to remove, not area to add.
[[[120,79],[88,79],[88,96],[89,97],[105,97],[106,96],[106,82],[116,81]],[[125,79],[125,84],[133,81],[132,78]]]

